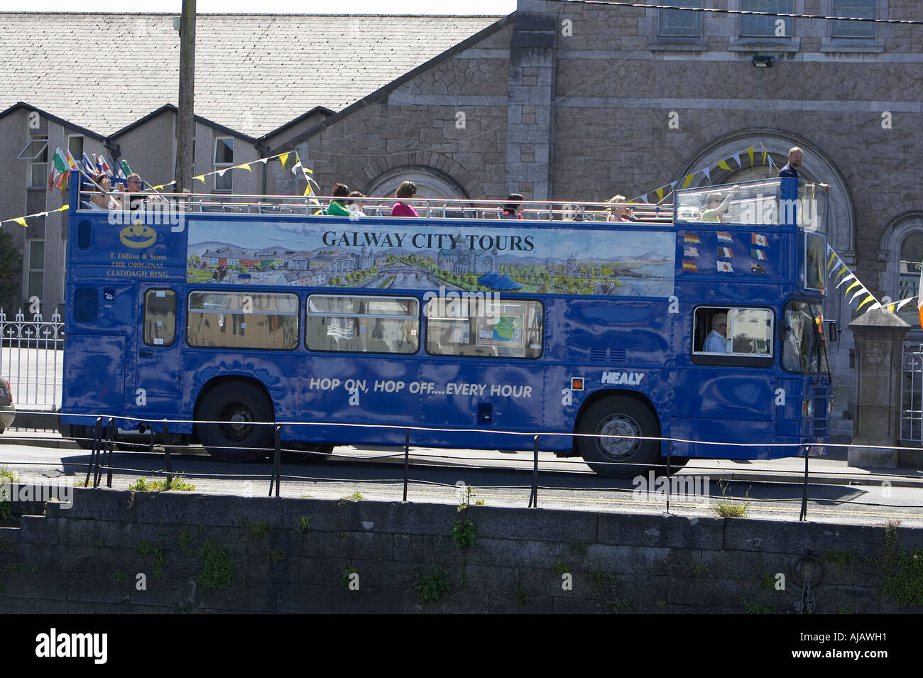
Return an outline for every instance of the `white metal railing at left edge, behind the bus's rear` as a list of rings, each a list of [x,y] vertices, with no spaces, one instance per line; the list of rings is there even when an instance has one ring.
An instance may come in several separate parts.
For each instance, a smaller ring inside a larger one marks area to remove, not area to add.
[[[54,313],[12,319],[0,309],[0,377],[9,380],[18,410],[59,410],[64,370],[64,321]]]

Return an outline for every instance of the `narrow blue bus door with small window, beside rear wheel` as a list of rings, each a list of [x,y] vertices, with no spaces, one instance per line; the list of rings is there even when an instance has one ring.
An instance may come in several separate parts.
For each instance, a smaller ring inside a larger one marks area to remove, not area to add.
[[[127,394],[126,412],[138,419],[174,418],[181,400],[182,365],[181,342],[176,337],[176,292],[142,290],[139,305],[141,327],[134,344],[134,388]]]

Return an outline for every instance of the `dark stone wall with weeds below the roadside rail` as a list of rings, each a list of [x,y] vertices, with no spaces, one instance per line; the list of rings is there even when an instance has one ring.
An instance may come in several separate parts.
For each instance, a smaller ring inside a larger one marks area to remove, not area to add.
[[[471,506],[459,548],[459,517],[78,488],[69,510],[0,528],[0,613],[789,613],[799,573],[817,613],[893,613],[882,554],[923,546],[920,529]],[[450,590],[422,601],[439,581]]]

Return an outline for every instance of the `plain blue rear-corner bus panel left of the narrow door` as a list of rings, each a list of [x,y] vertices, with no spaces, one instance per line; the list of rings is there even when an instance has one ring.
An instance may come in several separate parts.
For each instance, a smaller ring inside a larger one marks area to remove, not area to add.
[[[65,344],[63,410],[121,415],[125,408],[125,337],[68,334]]]

